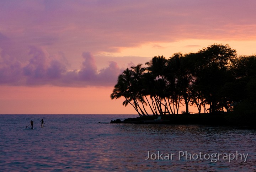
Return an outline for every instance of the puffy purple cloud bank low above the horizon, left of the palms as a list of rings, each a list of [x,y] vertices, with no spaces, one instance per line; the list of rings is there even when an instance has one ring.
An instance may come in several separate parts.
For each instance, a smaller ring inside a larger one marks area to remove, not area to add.
[[[28,55],[31,59],[25,65],[0,57],[1,85],[110,86],[123,71],[114,61],[110,61],[107,68],[97,70],[91,52],[82,53],[81,68],[74,70],[68,70],[63,57],[55,55],[52,58],[43,48],[31,46]]]

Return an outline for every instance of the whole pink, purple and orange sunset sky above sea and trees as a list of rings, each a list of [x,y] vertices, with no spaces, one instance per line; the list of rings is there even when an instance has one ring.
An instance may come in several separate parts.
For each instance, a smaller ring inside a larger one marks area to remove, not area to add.
[[[136,114],[122,98],[110,99],[124,69],[214,43],[255,54],[255,6],[255,0],[1,0],[0,114]]]

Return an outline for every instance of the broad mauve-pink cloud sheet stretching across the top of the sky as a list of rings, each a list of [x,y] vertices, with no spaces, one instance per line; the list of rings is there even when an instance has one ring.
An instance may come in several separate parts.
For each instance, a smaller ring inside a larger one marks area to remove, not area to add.
[[[1,1],[1,32],[24,45],[86,47],[93,54],[147,42],[252,40],[255,5],[239,0]]]

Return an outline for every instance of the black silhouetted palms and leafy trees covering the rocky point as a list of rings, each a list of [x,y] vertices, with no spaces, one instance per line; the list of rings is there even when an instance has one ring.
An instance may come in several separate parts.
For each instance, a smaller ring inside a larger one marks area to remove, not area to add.
[[[212,44],[168,59],[155,56],[145,65],[124,70],[114,86],[111,99],[124,98],[123,105],[132,106],[140,117],[123,123],[161,116],[179,124],[255,124],[255,54],[238,56],[229,45]],[[186,110],[180,112],[180,106]],[[197,114],[191,114],[191,106]]]

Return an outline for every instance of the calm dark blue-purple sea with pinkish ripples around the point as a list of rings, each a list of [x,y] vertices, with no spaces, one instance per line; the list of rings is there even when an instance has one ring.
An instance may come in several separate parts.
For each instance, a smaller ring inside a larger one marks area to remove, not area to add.
[[[0,171],[256,170],[256,130],[109,123],[129,117],[0,115]]]

